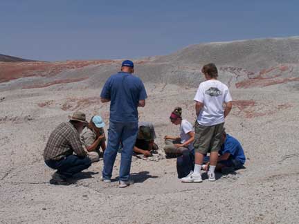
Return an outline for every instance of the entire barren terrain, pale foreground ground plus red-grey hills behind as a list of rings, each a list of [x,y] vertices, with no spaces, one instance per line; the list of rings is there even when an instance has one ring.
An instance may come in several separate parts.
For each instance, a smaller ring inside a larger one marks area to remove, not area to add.
[[[51,131],[73,111],[100,114],[109,126],[100,86],[120,62],[0,62],[0,223],[298,223],[298,50],[298,37],[259,39],[136,61],[149,95],[141,120],[154,123],[160,148],[165,134],[179,133],[168,120],[174,106],[194,122],[200,68],[215,62],[234,100],[226,130],[248,160],[215,183],[183,184],[176,160],[160,151],[133,159],[135,184],[125,189],[100,182],[102,160],[73,185],[50,185],[42,158]],[[119,161],[114,178],[118,169]]]

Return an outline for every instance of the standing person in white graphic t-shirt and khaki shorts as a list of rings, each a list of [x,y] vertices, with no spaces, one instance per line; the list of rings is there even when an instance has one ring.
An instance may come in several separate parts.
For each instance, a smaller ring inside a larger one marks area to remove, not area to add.
[[[224,131],[224,118],[233,106],[228,87],[217,80],[218,71],[215,64],[206,64],[201,72],[205,75],[206,81],[199,84],[194,97],[197,113],[197,122],[194,126],[195,165],[194,171],[181,179],[183,183],[202,182],[201,165],[207,153],[210,153],[208,180],[215,181],[215,167]]]

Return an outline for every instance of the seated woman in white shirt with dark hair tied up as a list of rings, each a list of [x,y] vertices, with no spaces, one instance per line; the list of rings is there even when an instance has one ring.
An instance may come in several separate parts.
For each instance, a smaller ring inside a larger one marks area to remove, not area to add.
[[[181,107],[176,107],[170,115],[172,124],[180,125],[180,136],[165,136],[164,151],[167,158],[180,156],[183,151],[193,151],[194,129],[192,124],[181,116]]]

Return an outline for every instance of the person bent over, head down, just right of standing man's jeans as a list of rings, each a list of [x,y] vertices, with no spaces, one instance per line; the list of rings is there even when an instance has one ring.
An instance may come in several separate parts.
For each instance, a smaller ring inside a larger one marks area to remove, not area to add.
[[[154,143],[156,133],[154,125],[150,122],[139,122],[138,136],[134,146],[134,153],[143,154],[143,156],[152,156],[152,152],[158,150]]]

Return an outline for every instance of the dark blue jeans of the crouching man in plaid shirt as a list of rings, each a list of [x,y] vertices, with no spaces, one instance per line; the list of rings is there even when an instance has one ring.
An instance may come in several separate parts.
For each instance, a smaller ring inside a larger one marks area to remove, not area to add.
[[[83,169],[87,169],[91,165],[91,160],[86,157],[76,155],[66,156],[60,160],[46,160],[46,165],[52,169],[57,169],[58,174],[62,174],[66,178],[77,174]]]

